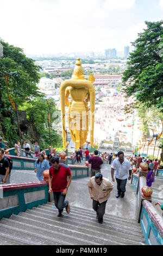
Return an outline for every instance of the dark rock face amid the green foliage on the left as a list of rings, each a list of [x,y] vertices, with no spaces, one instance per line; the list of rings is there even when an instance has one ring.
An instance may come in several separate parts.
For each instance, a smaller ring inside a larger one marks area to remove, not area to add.
[[[37,132],[35,126],[29,120],[27,120],[26,111],[18,111],[18,119],[22,135],[27,135],[30,137],[31,143],[39,143],[40,133]],[[17,126],[17,120],[15,120],[15,125]]]

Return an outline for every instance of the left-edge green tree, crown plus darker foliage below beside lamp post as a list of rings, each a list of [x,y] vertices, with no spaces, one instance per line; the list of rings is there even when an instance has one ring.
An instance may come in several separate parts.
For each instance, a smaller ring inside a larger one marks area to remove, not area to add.
[[[17,139],[14,119],[16,113],[11,106],[5,85],[5,75],[17,71],[17,74],[9,76],[8,90],[11,99],[19,107],[24,101],[31,101],[33,96],[41,95],[37,91],[36,83],[39,82],[37,71],[39,66],[34,64],[33,59],[29,59],[18,47],[9,45],[1,41],[3,45],[3,57],[0,58],[0,123],[8,146],[13,147]]]

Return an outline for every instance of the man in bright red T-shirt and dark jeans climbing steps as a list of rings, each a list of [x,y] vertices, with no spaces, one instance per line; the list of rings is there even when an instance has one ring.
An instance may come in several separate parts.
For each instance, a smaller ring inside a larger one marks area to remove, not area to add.
[[[71,170],[66,164],[59,162],[59,157],[54,156],[51,160],[52,167],[49,168],[49,193],[54,194],[54,203],[58,209],[57,216],[60,217],[64,208],[70,213],[70,204],[65,197],[72,180]],[[68,181],[67,181],[68,176]]]

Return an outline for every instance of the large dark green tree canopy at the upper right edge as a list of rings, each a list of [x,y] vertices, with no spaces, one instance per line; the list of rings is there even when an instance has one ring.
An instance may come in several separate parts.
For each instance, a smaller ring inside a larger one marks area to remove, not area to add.
[[[147,28],[139,33],[131,44],[127,69],[123,72],[123,92],[135,96],[136,101],[163,109],[163,57],[160,54],[163,36],[163,20],[145,22]],[[163,51],[163,46],[162,46]]]

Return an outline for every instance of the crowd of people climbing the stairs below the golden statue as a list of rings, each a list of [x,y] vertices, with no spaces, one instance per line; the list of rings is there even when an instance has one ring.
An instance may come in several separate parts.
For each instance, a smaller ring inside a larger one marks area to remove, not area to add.
[[[1,137],[0,137],[1,138]],[[10,164],[10,157],[4,152],[3,143],[0,141],[0,183],[10,183],[10,173],[12,166]],[[35,169],[37,178],[39,181],[43,180],[43,171],[49,170],[49,193],[53,192],[54,203],[58,209],[57,216],[60,217],[64,208],[67,214],[70,213],[70,204],[66,198],[68,187],[71,184],[72,174],[71,169],[65,163],[60,161],[57,156],[56,149],[49,147],[49,154],[43,151],[40,153],[39,145],[35,143]],[[20,151],[20,145],[18,142],[15,143],[15,150],[17,153]],[[30,145],[24,142],[23,150],[25,151],[26,157],[31,156]],[[127,180],[131,179],[132,166],[136,165],[137,171],[140,170],[140,163],[146,162],[148,164],[148,175],[147,175],[147,185],[151,186],[154,181],[154,175],[156,169],[158,168],[159,161],[157,159],[145,159],[145,157],[139,156],[129,156],[124,157],[124,153],[119,151],[115,153],[99,153],[95,150],[94,153],[90,153],[89,149],[83,150],[79,148],[76,150],[77,161],[81,162],[83,156],[85,156],[88,164],[91,164],[91,178],[87,182],[89,188],[90,198],[92,199],[92,208],[96,211],[96,219],[99,223],[103,223],[103,216],[105,214],[106,202],[110,197],[110,192],[114,188],[112,182],[117,182],[117,194],[116,198],[123,198],[126,193]],[[108,164],[111,164],[111,181],[108,178],[103,178],[101,173],[101,166],[103,160],[108,160]],[[131,164],[132,163],[132,164]],[[68,178],[68,179],[67,179]],[[158,203],[156,203],[158,204]],[[161,207],[162,205],[159,204]]]

